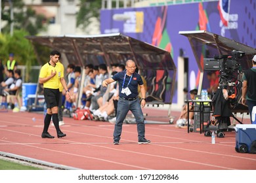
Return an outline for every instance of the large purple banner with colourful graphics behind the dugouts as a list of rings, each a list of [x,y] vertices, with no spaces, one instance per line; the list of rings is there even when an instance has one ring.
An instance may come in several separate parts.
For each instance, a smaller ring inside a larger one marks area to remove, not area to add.
[[[192,90],[198,88],[198,66],[187,37],[179,35],[179,31],[206,30],[256,47],[256,1],[230,0],[228,3],[228,15],[219,1],[101,10],[100,30],[102,34],[123,33],[163,48],[171,52],[176,66],[182,48],[188,57],[188,90]],[[207,88],[207,84],[203,82],[203,88]],[[177,103],[177,88],[173,103]]]

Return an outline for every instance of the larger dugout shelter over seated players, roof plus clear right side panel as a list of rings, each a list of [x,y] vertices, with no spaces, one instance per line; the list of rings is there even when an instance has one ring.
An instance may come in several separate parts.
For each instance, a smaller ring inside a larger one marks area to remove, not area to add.
[[[62,63],[74,63],[84,67],[91,63],[99,65],[113,63],[125,65],[127,59],[133,59],[146,78],[148,102],[171,103],[175,86],[176,66],[171,54],[166,50],[133,39],[121,33],[104,35],[63,35],[63,36],[28,36],[39,55],[38,44],[62,53]],[[43,61],[39,60],[43,65]],[[64,60],[66,59],[66,61]],[[163,82],[160,82],[163,79]],[[160,87],[163,84],[164,87]],[[158,91],[161,90],[161,91]],[[158,92],[158,93],[156,93]],[[156,97],[158,95],[158,97]]]

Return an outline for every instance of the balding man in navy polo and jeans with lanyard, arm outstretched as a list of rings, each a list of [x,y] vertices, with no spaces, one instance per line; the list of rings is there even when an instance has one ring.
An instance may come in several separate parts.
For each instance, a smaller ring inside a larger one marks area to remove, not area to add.
[[[103,87],[107,87],[108,84],[115,81],[119,84],[119,101],[117,105],[116,124],[114,129],[114,144],[119,144],[123,120],[125,120],[129,110],[131,110],[137,122],[138,143],[150,143],[150,141],[145,138],[145,124],[142,113],[142,108],[146,105],[146,90],[141,76],[135,72],[135,69],[135,61],[129,59],[126,61],[125,71],[121,71],[112,76],[112,78],[102,81]],[[140,93],[142,96],[141,101],[138,97],[138,85],[140,86]]]

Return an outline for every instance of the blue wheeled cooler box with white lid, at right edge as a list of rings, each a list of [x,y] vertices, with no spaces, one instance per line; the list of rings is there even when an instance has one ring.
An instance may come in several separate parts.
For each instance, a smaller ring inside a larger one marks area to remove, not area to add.
[[[256,143],[256,124],[237,124],[236,152],[251,152],[251,145]]]

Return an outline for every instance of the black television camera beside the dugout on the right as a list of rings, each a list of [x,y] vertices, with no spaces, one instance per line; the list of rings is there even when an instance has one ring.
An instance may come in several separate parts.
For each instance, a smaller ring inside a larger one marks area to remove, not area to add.
[[[203,59],[204,71],[219,71],[219,88],[228,91],[231,108],[238,105],[242,96],[242,67],[240,59],[245,53],[233,50],[231,55],[214,56]]]

